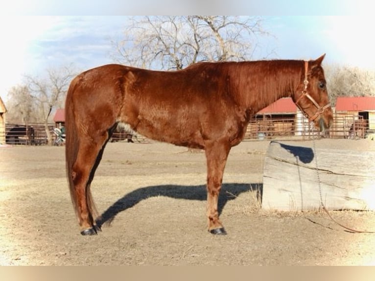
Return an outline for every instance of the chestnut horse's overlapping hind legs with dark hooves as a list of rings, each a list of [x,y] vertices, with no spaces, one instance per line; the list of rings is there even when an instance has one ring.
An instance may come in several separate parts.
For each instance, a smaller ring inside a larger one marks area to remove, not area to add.
[[[95,225],[96,209],[91,195],[90,184],[95,168],[99,164],[104,146],[108,140],[108,132],[101,136],[82,137],[80,139],[77,159],[72,167],[74,197],[82,235],[96,234],[99,227]]]

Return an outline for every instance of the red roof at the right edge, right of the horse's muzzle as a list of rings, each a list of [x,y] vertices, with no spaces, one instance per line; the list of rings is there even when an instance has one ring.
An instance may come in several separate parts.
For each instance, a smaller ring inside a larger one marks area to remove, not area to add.
[[[375,96],[340,96],[336,100],[336,111],[375,110]]]

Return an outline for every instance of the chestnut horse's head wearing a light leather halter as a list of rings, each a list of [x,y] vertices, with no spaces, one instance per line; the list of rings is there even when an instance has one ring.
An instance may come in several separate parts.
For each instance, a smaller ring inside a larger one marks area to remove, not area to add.
[[[324,70],[321,66],[324,56],[314,61],[305,61],[303,83],[301,83],[292,98],[309,121],[323,132],[333,121],[332,108],[328,100],[328,91]]]

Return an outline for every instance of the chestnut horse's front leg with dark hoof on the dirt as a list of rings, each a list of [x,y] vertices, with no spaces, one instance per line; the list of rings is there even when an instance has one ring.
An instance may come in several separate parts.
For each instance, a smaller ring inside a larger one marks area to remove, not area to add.
[[[223,173],[231,149],[227,141],[212,141],[206,144],[207,158],[207,217],[211,234],[227,234],[219,220],[218,200]]]

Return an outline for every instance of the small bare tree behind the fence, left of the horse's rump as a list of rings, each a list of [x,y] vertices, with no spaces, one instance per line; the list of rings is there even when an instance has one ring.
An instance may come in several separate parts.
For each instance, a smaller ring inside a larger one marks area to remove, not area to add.
[[[37,118],[43,121],[45,125],[49,144],[52,143],[52,138],[48,129],[48,121],[52,110],[63,106],[73,75],[73,70],[70,66],[47,70],[47,78],[26,76],[30,95],[37,108]]]

